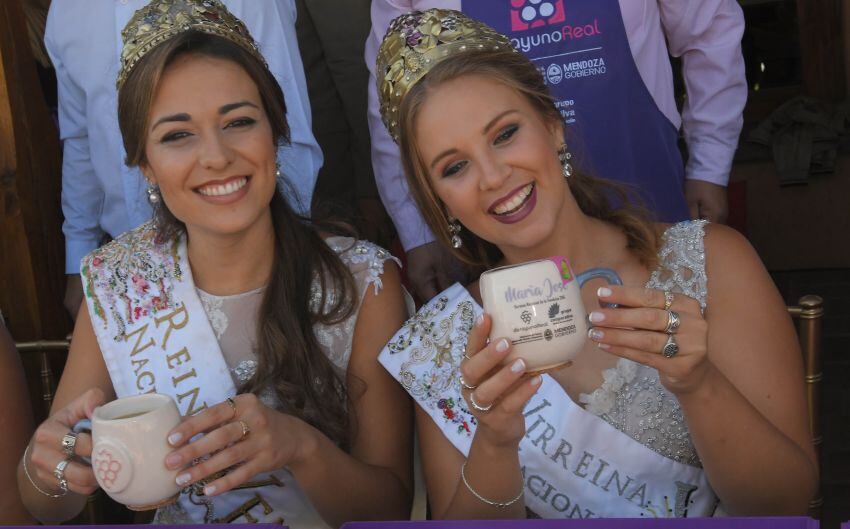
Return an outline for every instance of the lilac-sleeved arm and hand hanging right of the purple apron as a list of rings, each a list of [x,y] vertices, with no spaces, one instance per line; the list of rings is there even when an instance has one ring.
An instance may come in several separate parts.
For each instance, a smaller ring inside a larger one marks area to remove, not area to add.
[[[682,128],[691,217],[725,222],[726,185],[747,102],[744,13],[735,0],[658,0],[658,7],[670,54],[682,58],[688,94]]]

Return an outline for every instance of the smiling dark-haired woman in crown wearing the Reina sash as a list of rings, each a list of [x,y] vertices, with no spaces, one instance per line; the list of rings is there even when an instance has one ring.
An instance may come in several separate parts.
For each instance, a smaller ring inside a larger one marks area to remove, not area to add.
[[[122,36],[119,123],[155,218],[83,260],[68,363],[22,463],[26,505],[44,521],[79,512],[96,483],[73,456],[91,438],[69,430],[158,392],[186,419],[163,461],[183,491],[145,506],[157,521],[406,517],[410,410],[375,361],[405,314],[392,258],[287,204],[284,94],[223,5],[154,0]]]

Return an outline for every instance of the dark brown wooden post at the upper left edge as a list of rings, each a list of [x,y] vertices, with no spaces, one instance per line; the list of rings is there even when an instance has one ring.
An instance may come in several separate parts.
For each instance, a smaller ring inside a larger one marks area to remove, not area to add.
[[[21,0],[0,2],[0,307],[16,340],[64,338],[59,138]]]

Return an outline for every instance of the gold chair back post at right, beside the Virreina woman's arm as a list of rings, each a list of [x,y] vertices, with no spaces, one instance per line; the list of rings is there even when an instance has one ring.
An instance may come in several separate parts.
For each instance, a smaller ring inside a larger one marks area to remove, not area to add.
[[[823,379],[821,370],[821,326],[823,321],[823,298],[806,295],[800,298],[798,304],[788,307],[788,312],[797,324],[797,334],[800,348],[803,352],[803,365],[806,380],[806,400],[809,407],[809,429],[812,433],[812,443],[818,466],[821,460],[821,445],[823,435],[820,428],[820,383]],[[815,498],[809,503],[809,515],[820,518],[823,507],[823,496],[820,488]]]

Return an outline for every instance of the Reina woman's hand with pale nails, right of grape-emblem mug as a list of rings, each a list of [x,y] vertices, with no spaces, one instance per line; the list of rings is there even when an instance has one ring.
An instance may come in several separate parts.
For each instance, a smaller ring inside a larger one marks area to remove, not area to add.
[[[165,458],[165,465],[186,467],[177,475],[181,487],[208,480],[204,494],[217,496],[297,459],[303,446],[296,440],[301,430],[297,422],[268,408],[254,394],[237,395],[186,418],[169,432],[168,442],[180,448]],[[201,433],[202,437],[187,443]]]

